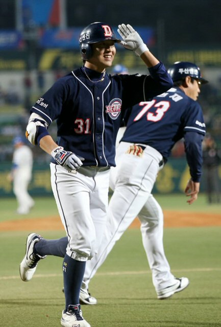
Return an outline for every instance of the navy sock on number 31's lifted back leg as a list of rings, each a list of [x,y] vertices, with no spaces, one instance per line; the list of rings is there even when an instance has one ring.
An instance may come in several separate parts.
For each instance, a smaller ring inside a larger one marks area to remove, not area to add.
[[[63,237],[58,240],[45,240],[41,239],[35,243],[34,251],[35,254],[40,256],[44,255],[56,255],[64,258],[67,248],[67,237]]]

